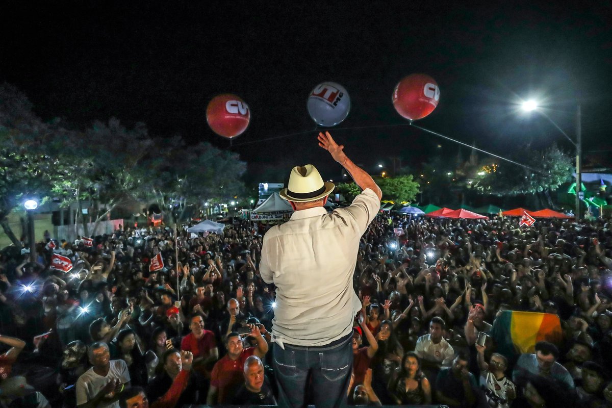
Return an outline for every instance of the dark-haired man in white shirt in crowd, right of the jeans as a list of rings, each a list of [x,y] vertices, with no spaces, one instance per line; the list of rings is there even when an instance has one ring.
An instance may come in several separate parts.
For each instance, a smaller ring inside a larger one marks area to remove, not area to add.
[[[453,347],[442,337],[444,333],[444,320],[434,317],[429,324],[429,334],[417,339],[414,352],[422,360],[424,367],[439,369],[450,367],[455,358]]]

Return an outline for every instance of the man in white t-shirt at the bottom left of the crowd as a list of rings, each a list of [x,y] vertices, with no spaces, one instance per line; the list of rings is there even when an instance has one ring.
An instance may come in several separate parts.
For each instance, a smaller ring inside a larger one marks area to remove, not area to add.
[[[76,380],[77,408],[119,408],[119,395],[130,386],[130,373],[123,360],[110,360],[108,346],[101,341],[89,347],[93,366]]]

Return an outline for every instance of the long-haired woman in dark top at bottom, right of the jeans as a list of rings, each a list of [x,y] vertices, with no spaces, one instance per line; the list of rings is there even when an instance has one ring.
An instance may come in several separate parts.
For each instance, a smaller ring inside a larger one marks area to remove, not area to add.
[[[420,371],[420,360],[416,353],[410,351],[404,355],[400,373],[389,384],[389,393],[398,405],[431,404],[431,385]]]

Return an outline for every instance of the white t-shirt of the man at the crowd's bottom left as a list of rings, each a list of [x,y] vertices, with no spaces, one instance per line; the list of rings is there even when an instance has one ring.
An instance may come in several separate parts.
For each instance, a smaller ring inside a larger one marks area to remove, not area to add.
[[[76,405],[81,405],[94,399],[97,393],[99,393],[110,380],[119,379],[121,384],[130,381],[130,373],[127,371],[127,364],[125,364],[123,360],[111,360],[110,364],[111,367],[106,377],[95,374],[93,367],[78,377],[78,380],[76,380]],[[108,403],[101,402],[97,408],[119,408],[119,401],[111,401]]]

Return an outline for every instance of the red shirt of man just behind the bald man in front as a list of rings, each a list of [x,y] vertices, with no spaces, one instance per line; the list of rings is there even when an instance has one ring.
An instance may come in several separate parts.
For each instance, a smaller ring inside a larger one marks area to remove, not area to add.
[[[229,355],[221,358],[212,369],[211,385],[217,387],[217,404],[228,404],[231,396],[236,395],[238,388],[244,384],[244,362],[248,357],[255,354],[255,347],[243,349],[242,354],[236,360],[231,360]]]

